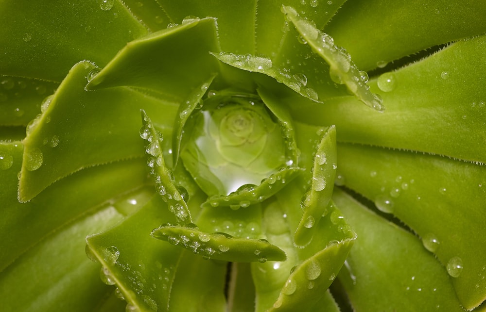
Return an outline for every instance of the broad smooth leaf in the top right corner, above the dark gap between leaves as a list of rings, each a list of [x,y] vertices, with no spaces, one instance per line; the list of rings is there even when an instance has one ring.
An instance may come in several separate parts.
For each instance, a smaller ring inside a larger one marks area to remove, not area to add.
[[[349,0],[326,32],[369,70],[387,62],[486,32],[483,1]]]

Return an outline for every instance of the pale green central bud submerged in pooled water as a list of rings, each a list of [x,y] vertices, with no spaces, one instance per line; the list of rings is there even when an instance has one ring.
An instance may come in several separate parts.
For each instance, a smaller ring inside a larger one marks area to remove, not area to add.
[[[184,128],[184,166],[209,196],[259,185],[286,162],[285,139],[274,119],[253,95],[208,97]]]

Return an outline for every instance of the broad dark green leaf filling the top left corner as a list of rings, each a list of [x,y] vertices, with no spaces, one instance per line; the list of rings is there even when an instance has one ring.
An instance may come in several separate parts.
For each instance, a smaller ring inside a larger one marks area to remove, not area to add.
[[[55,82],[85,59],[104,66],[147,33],[119,0],[5,0],[0,15],[0,73]]]

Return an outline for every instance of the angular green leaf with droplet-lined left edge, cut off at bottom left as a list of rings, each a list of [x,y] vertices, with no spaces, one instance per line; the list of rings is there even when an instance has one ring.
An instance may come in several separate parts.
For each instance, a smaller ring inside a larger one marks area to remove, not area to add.
[[[87,253],[102,264],[104,282],[116,284],[128,307],[141,311],[168,309],[180,255],[180,248],[150,236],[161,223],[175,221],[163,206],[156,196],[117,227],[87,238]]]

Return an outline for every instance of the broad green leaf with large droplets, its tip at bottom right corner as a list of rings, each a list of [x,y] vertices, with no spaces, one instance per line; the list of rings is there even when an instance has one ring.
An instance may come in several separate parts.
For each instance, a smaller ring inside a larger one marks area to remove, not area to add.
[[[486,166],[345,144],[339,145],[338,161],[347,187],[422,237],[465,308],[484,301],[486,251],[481,246],[486,240],[478,229],[486,226]]]

